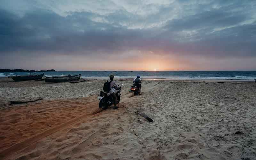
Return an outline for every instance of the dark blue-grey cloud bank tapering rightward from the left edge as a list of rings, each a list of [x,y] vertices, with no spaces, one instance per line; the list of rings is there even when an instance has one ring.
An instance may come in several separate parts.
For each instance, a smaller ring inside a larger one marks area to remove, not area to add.
[[[72,12],[62,17],[49,11],[26,13],[19,18],[0,11],[1,52],[25,51],[113,51],[127,40],[142,36],[139,30],[94,22],[89,12]],[[130,46],[131,47],[131,46]]]

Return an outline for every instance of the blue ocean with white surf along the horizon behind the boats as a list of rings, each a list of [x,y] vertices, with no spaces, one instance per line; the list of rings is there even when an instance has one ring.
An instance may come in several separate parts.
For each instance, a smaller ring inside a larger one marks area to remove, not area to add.
[[[42,74],[43,72],[2,72],[0,77],[20,76],[28,74]],[[82,78],[107,79],[109,75],[116,78],[134,78],[140,75],[141,79],[177,79],[177,80],[254,80],[255,71],[58,71],[44,72],[45,76],[78,75]]]

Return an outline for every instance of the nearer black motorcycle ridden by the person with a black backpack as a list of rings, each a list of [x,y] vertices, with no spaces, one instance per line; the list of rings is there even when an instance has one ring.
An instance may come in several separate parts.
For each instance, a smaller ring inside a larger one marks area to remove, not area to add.
[[[124,84],[120,85],[120,89],[117,89],[117,92],[116,92],[117,104],[120,102],[121,87],[123,85]],[[110,95],[110,93],[105,91],[100,91],[98,100],[100,100],[99,108],[102,108],[102,109],[107,109],[109,106],[114,104],[113,97]]]

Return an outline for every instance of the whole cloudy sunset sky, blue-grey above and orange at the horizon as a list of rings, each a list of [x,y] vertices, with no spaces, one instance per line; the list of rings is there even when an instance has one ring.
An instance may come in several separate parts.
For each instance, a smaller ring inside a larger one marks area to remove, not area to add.
[[[0,0],[0,68],[256,71],[255,0]]]

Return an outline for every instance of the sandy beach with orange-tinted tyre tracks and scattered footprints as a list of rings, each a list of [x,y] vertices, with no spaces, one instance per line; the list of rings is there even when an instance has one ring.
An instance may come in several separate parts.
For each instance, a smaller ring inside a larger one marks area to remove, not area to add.
[[[116,80],[119,108],[98,112],[105,81],[1,78],[0,159],[256,159],[256,83],[144,80],[132,96]]]

